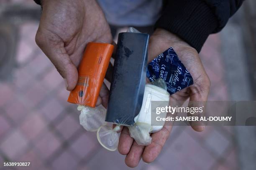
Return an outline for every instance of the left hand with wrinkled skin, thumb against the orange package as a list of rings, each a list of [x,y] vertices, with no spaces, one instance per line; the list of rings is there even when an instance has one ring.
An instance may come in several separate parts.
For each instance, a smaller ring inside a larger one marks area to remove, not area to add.
[[[87,43],[112,43],[109,25],[95,0],[43,0],[42,7],[36,43],[73,90]]]

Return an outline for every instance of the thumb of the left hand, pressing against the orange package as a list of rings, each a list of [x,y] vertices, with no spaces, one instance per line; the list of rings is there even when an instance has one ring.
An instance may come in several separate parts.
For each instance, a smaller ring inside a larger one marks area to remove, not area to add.
[[[64,48],[64,42],[53,33],[36,33],[36,44],[51,60],[57,71],[66,81],[67,90],[73,90],[77,85],[78,71]]]

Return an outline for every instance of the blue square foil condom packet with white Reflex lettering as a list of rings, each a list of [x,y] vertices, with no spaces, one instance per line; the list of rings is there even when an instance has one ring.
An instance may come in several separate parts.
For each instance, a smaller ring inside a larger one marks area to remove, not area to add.
[[[151,82],[158,78],[164,79],[170,95],[193,84],[192,76],[172,47],[148,64],[147,77]]]

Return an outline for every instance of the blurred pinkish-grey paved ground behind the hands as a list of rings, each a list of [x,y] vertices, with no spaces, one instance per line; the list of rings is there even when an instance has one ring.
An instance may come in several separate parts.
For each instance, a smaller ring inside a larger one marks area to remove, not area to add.
[[[17,0],[18,1],[18,0]],[[13,1],[15,2],[15,1]],[[67,103],[64,81],[35,44],[37,22],[19,25],[15,69],[0,80],[0,169],[6,161],[28,161],[21,169],[129,169],[124,156],[105,150],[96,134],[80,125]],[[220,54],[220,34],[211,35],[200,53],[211,80],[209,100],[229,100]],[[174,127],[159,158],[142,161],[142,170],[236,170],[238,158],[232,127]],[[15,168],[13,168],[15,169]]]

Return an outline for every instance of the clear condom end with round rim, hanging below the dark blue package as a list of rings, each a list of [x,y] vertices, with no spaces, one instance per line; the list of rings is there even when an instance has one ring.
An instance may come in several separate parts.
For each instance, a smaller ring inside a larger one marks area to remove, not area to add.
[[[103,125],[97,131],[97,139],[105,149],[115,151],[118,148],[120,125],[112,128],[112,125]]]

